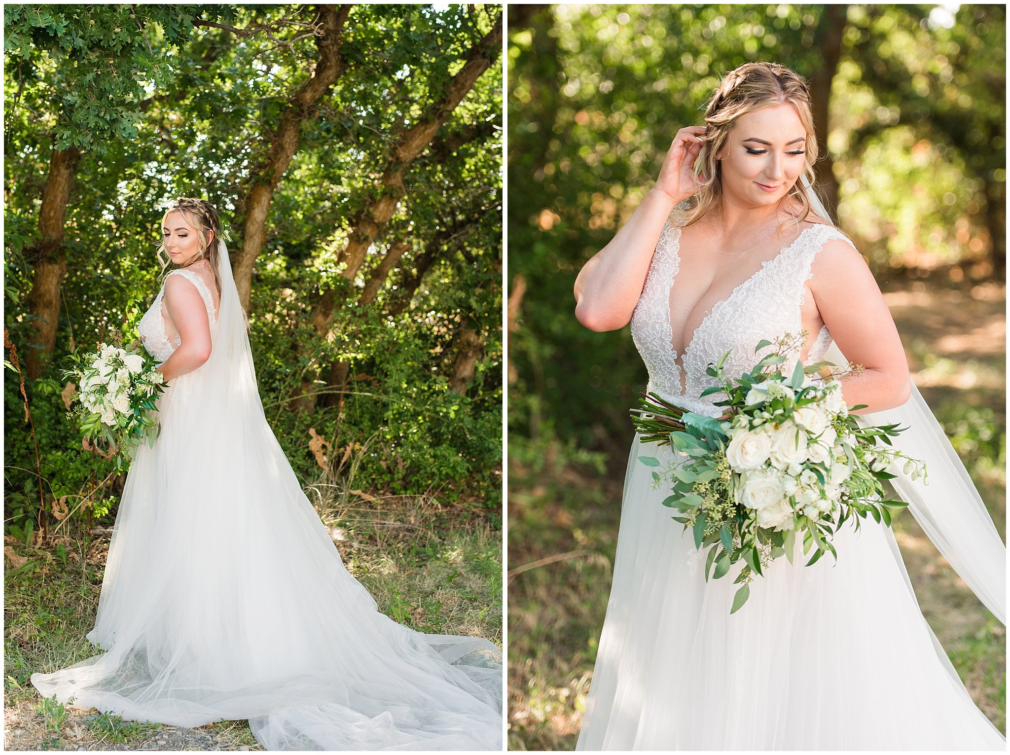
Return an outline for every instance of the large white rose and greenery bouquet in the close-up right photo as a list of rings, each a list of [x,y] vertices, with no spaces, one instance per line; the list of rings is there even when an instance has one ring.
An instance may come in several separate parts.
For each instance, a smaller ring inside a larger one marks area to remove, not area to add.
[[[709,364],[708,374],[720,385],[701,396],[726,395],[714,404],[725,407],[721,418],[684,411],[656,394],[632,410],[643,442],[671,443],[679,452],[652,478],[672,487],[663,503],[679,512],[674,519],[692,530],[698,550],[709,548],[705,579],[743,561],[730,613],[746,602],[754,574],[781,556],[793,561],[798,537],[809,566],[825,552],[837,558],[831,537],[848,519],[856,529],[867,516],[890,526],[889,509],[907,506],[885,496],[884,480],[895,476],[887,471],[892,463],[903,461],[913,479],[929,483],[921,461],[891,446],[906,428],[861,426],[842,400],[840,372],[821,384],[810,376],[834,366],[830,362],[797,362],[791,375],[782,373],[785,353],[803,338],[763,340],[755,351],[777,350],[736,380],[724,374],[729,352]],[[638,459],[661,466],[653,456]]]

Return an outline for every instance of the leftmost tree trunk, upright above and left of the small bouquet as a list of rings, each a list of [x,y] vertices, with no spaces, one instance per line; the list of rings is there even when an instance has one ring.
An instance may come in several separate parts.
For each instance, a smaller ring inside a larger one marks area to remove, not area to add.
[[[38,211],[39,240],[29,252],[35,259],[28,295],[28,312],[32,321],[34,342],[25,355],[28,378],[36,380],[53,354],[60,322],[60,294],[67,275],[67,250],[64,248],[64,221],[67,204],[74,185],[74,172],[81,160],[81,150],[76,146],[54,149],[49,158],[49,175],[42,190],[42,204]]]

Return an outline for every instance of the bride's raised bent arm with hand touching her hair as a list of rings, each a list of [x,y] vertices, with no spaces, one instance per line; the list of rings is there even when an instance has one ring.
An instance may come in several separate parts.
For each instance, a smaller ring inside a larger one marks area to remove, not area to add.
[[[575,316],[590,330],[618,330],[631,320],[663,224],[679,202],[697,191],[692,167],[704,133],[703,126],[677,132],[655,186],[610,243],[579,272]]]

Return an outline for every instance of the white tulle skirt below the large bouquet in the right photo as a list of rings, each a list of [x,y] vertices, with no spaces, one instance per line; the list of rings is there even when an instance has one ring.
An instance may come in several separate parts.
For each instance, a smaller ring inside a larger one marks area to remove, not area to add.
[[[828,554],[777,559],[730,615],[734,567],[671,519],[638,455],[581,750],[1004,750],[919,610],[894,536],[848,525]]]

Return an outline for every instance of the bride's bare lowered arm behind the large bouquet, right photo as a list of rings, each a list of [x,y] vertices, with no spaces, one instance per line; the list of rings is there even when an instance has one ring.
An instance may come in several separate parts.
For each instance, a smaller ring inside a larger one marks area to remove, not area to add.
[[[904,404],[912,390],[905,350],[863,256],[847,242],[830,240],[814,257],[812,273],[810,290],[831,339],[849,364],[863,365],[862,374],[841,379],[845,403],[867,405],[855,414]]]

